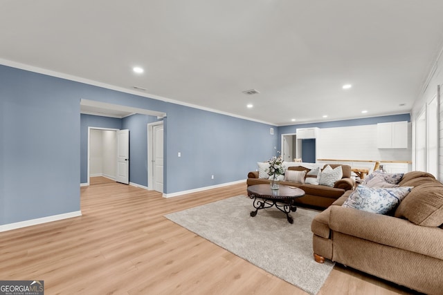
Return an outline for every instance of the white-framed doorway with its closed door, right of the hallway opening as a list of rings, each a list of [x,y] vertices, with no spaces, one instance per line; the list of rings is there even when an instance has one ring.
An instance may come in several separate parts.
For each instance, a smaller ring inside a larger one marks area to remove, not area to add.
[[[147,124],[147,188],[163,193],[163,121]]]

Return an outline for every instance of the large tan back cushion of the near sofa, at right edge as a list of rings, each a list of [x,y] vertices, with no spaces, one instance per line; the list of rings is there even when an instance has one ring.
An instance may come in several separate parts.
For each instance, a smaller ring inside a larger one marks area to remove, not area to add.
[[[443,185],[435,181],[416,187],[401,202],[395,217],[406,218],[415,225],[440,227],[443,224]]]

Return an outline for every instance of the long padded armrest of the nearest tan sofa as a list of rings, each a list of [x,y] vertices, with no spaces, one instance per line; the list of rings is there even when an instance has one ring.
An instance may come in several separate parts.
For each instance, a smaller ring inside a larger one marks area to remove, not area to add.
[[[329,227],[342,234],[443,260],[440,227],[422,227],[401,218],[341,206],[331,206]]]

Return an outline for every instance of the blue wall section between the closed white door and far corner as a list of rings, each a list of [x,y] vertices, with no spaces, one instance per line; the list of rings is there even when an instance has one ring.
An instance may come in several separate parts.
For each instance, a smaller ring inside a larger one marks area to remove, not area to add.
[[[178,105],[168,109],[167,121],[166,178],[172,191],[246,179],[257,161],[276,152],[278,136],[269,134],[267,124]]]

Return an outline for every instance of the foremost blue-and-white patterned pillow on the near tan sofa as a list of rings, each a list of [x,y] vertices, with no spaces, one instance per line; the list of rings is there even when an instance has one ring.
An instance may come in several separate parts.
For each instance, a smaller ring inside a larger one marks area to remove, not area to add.
[[[342,206],[386,214],[397,207],[411,189],[413,187],[370,188],[360,184]]]

